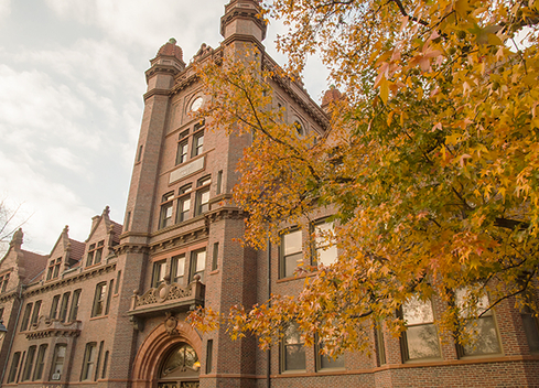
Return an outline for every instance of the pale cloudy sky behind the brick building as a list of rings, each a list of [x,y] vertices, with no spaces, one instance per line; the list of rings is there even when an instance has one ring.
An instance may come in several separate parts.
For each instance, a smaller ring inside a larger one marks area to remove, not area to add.
[[[0,0],[0,201],[20,206],[26,250],[48,254],[65,225],[84,241],[110,206],[122,223],[143,110],[144,72],[175,37],[188,63],[217,47],[227,0]],[[263,44],[276,52],[270,22]],[[304,74],[319,101],[326,74]]]

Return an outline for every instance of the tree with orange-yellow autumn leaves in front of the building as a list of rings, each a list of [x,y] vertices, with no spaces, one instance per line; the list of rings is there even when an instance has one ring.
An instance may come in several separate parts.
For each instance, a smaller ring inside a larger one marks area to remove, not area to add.
[[[328,353],[366,349],[358,328],[385,320],[398,334],[399,306],[436,294],[439,327],[465,343],[467,320],[505,299],[535,309],[538,1],[276,0],[267,12],[290,26],[278,42],[289,72],[256,52],[225,57],[200,71],[213,97],[203,114],[254,133],[235,188],[249,213],[245,242],[278,242],[283,222],[306,227],[334,206],[327,238],[343,255],[299,295],[237,306],[231,335],[269,346],[293,319],[306,344],[319,335],[338,338]],[[346,91],[316,142],[294,134],[271,95],[313,53]]]

